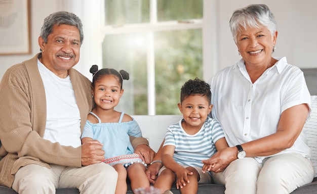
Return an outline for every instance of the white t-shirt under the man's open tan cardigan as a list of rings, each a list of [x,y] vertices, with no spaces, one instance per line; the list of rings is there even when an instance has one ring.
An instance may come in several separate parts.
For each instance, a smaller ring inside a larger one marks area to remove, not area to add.
[[[45,139],[62,146],[81,146],[81,117],[69,76],[60,78],[37,60],[46,95]]]

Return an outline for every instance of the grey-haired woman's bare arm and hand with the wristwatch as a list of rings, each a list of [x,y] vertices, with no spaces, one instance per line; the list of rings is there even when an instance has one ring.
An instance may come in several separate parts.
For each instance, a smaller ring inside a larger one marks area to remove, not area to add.
[[[279,120],[276,133],[241,144],[246,157],[269,156],[291,148],[301,133],[309,107],[307,104],[296,105],[285,110]],[[268,121],[269,122],[269,121]],[[205,164],[217,163],[211,171],[225,169],[233,160],[237,159],[237,148],[230,147],[218,151]]]

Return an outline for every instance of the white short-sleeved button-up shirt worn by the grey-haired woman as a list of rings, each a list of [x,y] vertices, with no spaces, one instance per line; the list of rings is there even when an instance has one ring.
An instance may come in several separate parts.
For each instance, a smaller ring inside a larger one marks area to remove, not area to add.
[[[212,117],[221,123],[230,147],[275,133],[283,111],[295,105],[310,105],[303,72],[289,65],[285,57],[277,60],[254,83],[243,59],[209,80]],[[290,149],[280,153],[286,152],[310,158],[303,131]],[[264,158],[255,159],[261,163]]]

